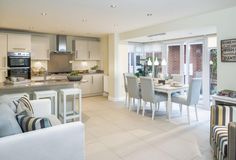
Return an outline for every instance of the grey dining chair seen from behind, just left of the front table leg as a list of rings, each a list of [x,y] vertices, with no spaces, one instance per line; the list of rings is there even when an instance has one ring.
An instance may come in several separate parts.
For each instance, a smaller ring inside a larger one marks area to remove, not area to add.
[[[140,77],[140,83],[141,83],[141,95],[144,101],[143,116],[145,114],[146,103],[150,102],[150,106],[152,108],[152,120],[154,120],[157,103],[159,110],[160,102],[167,101],[167,95],[161,93],[155,93],[154,83],[152,78]],[[154,106],[152,105],[153,103]]]

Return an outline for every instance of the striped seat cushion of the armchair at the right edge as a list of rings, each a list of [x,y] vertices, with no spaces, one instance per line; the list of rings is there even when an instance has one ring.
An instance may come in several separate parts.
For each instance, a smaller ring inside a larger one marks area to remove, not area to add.
[[[227,156],[228,127],[214,126],[212,138],[215,143],[215,155],[217,159],[223,160]]]

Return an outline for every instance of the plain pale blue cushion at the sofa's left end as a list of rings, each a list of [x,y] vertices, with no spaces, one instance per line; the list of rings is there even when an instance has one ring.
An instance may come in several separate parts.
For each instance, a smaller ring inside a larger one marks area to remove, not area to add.
[[[5,103],[0,104],[0,137],[22,133],[15,113]]]

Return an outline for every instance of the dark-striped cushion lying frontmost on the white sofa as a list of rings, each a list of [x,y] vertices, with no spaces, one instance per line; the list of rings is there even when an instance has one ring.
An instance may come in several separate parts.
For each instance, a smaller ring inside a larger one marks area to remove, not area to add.
[[[31,117],[28,116],[26,111],[23,111],[20,114],[16,115],[16,119],[23,132],[33,131],[52,126],[48,118]]]

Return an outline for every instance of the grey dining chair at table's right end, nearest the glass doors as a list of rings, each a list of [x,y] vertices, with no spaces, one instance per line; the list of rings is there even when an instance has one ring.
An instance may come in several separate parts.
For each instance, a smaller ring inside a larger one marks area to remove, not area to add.
[[[189,124],[190,124],[189,107],[193,105],[195,107],[196,120],[198,121],[197,104],[200,97],[201,85],[202,85],[201,78],[193,78],[192,81],[190,82],[187,95],[176,94],[171,98],[172,102],[180,104],[181,115],[182,115],[182,105],[187,106],[187,116]]]

